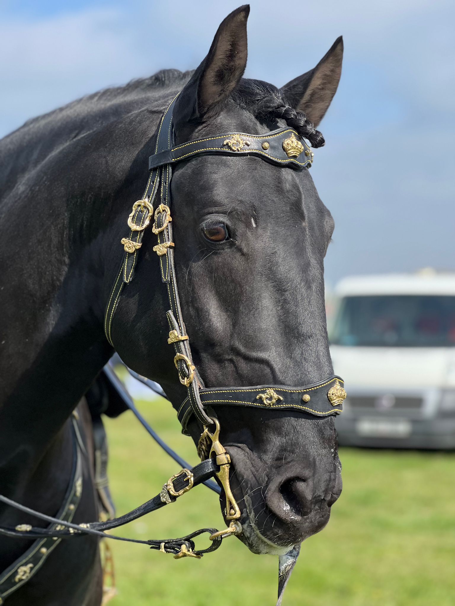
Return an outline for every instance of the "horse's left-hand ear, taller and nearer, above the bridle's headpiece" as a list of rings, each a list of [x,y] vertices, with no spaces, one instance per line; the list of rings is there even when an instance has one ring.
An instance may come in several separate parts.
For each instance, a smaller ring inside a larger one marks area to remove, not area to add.
[[[203,118],[216,110],[237,86],[246,67],[246,21],[249,5],[227,15],[204,61],[183,88],[175,106],[175,122]]]

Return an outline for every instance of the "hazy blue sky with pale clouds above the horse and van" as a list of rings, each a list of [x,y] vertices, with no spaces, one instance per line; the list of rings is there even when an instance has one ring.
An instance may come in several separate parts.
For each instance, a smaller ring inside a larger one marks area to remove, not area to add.
[[[164,67],[194,68],[238,1],[0,1],[0,136]],[[335,218],[333,284],[454,269],[453,0],[252,0],[247,76],[283,85],[345,39],[312,175]],[[283,7],[277,10],[277,7]]]

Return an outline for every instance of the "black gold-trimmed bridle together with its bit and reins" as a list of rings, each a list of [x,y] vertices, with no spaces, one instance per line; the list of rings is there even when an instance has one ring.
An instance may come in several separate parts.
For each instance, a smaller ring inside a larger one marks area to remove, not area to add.
[[[177,95],[178,96],[178,95]],[[170,181],[172,166],[177,162],[186,161],[201,155],[255,156],[271,164],[303,170],[311,167],[313,153],[298,133],[292,128],[280,128],[265,135],[246,135],[244,133],[226,133],[198,141],[190,141],[174,145],[174,128],[172,112],[177,96],[164,112],[158,129],[155,153],[149,158],[150,176],[143,198],[133,204],[128,218],[129,235],[121,240],[124,256],[120,271],[110,294],[109,303],[104,319],[104,330],[109,343],[112,341],[112,322],[118,307],[121,293],[126,284],[132,281],[134,270],[146,228],[152,224],[152,231],[157,236],[157,244],[153,251],[158,255],[161,279],[166,285],[169,298],[167,323],[169,337],[167,343],[175,349],[174,364],[177,367],[178,378],[187,388],[187,396],[178,410],[178,419],[187,434],[189,419],[194,415],[201,425],[202,433],[198,444],[198,455],[201,463],[189,469],[184,468],[172,476],[163,485],[161,492],[140,507],[119,518],[105,522],[90,522],[73,524],[68,517],[47,516],[32,510],[18,502],[0,495],[0,501],[11,507],[32,514],[39,519],[49,522],[47,528],[32,527],[29,524],[19,524],[15,528],[0,527],[0,534],[22,539],[42,539],[43,541],[58,541],[59,539],[83,534],[92,534],[101,538],[137,542],[149,545],[152,549],[174,554],[175,558],[192,556],[201,558],[204,553],[217,549],[223,538],[231,534],[241,533],[240,509],[232,494],[229,484],[229,468],[231,458],[220,442],[220,424],[215,410],[219,405],[254,407],[265,409],[298,410],[313,416],[335,415],[342,411],[342,403],[346,398],[343,380],[339,376],[329,376],[321,382],[305,387],[286,387],[285,385],[255,385],[254,387],[222,387],[206,388],[192,362],[189,336],[183,322],[180,300],[177,290],[174,267],[174,241],[172,239],[172,217],[170,215]],[[155,213],[153,204],[159,199]],[[77,467],[77,465],[76,465]],[[76,470],[73,473],[72,495],[77,493]],[[180,539],[139,541],[126,539],[112,534],[107,530],[127,524],[140,518],[150,511],[175,502],[182,494],[194,486],[206,482],[216,476],[221,484],[226,498],[225,518],[229,527],[217,531],[214,528],[204,528]],[[73,504],[74,505],[74,504]],[[204,532],[210,533],[212,541],[209,548],[197,550],[193,539]],[[45,552],[42,553],[45,555]],[[41,560],[40,560],[41,562]],[[30,565],[30,564],[29,564]],[[36,564],[33,564],[36,566]],[[22,573],[24,573],[22,566]],[[32,570],[32,568],[30,568]],[[10,576],[12,584],[22,582],[21,574]],[[24,576],[22,574],[22,576]],[[26,575],[25,575],[26,576]],[[1,583],[1,579],[0,579]],[[1,589],[0,589],[1,591]],[[1,604],[1,601],[0,601]]]

